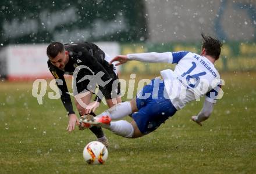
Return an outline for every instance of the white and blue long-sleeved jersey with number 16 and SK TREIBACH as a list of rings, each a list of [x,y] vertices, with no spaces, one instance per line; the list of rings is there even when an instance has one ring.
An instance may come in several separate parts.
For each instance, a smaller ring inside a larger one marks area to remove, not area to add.
[[[206,57],[191,52],[138,53],[127,55],[130,60],[175,63],[175,70],[163,70],[165,90],[177,110],[187,103],[205,96],[216,103],[221,78]]]

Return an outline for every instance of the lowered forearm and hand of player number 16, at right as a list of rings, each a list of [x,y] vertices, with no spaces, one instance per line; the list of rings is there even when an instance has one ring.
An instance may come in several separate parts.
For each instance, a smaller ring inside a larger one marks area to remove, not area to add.
[[[214,103],[208,102],[207,100],[204,101],[204,107],[197,116],[192,116],[192,121],[196,122],[198,125],[202,126],[203,121],[208,119],[214,109]]]

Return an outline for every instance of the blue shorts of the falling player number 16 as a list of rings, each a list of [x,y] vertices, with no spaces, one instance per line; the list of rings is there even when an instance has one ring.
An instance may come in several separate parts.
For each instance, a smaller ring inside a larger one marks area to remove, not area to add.
[[[133,119],[144,135],[155,131],[163,122],[176,113],[176,108],[168,98],[163,80],[155,78],[137,94],[138,112]]]

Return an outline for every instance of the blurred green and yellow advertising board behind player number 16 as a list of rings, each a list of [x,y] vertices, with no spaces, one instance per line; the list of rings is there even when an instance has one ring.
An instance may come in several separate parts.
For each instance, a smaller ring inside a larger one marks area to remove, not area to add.
[[[165,44],[122,44],[121,54],[141,52],[178,52],[186,50],[201,52],[198,43],[165,43]],[[166,68],[173,68],[173,64],[144,63],[130,61],[122,66],[122,73],[157,74]],[[226,42],[222,46],[221,57],[216,61],[219,71],[256,71],[256,43],[254,42]]]

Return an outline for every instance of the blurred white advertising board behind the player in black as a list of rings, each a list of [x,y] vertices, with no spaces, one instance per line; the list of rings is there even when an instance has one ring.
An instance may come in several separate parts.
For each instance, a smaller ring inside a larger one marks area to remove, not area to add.
[[[96,42],[110,57],[119,55],[116,42]],[[0,50],[0,75],[10,81],[53,78],[48,70],[48,44],[9,45]]]

